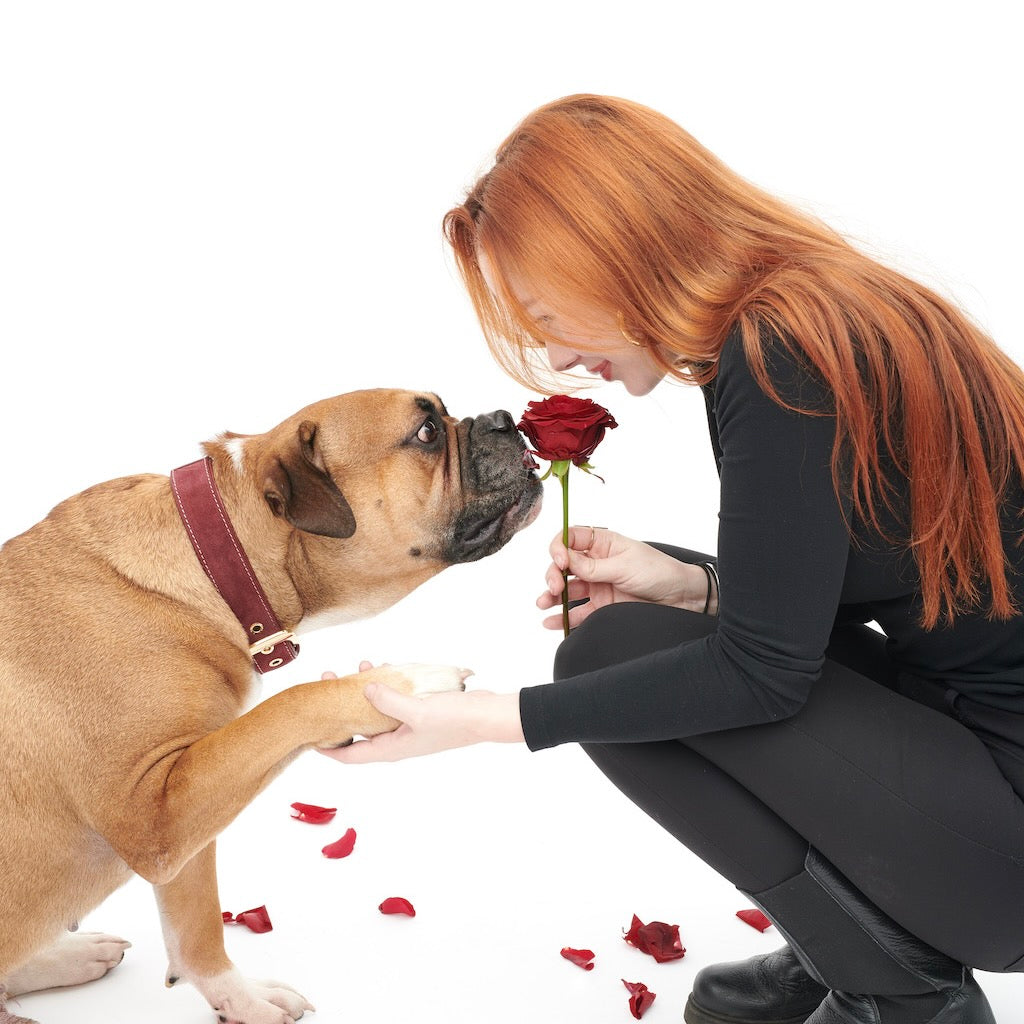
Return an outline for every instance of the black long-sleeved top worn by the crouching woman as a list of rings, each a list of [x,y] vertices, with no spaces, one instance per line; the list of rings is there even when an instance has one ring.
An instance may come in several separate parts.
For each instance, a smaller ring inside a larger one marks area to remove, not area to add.
[[[767,368],[786,400],[826,415],[793,412],[770,398],[746,361],[738,328],[732,331],[717,377],[703,388],[721,482],[717,631],[524,688],[520,712],[531,750],[678,738],[792,716],[843,622],[877,622],[895,669],[1024,715],[1024,616],[990,621],[982,607],[951,626],[940,621],[923,629],[920,577],[905,543],[887,544],[854,514],[852,496],[837,497],[830,391],[778,338],[769,339]],[[886,465],[901,493],[885,525],[898,536],[907,481]],[[1018,488],[1005,510],[1004,536],[1011,587],[1024,608],[1022,504]]]

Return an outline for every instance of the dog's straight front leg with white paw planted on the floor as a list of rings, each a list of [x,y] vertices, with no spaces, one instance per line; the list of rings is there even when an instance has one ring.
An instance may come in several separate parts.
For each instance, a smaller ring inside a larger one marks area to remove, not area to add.
[[[294,989],[244,978],[224,951],[215,844],[201,850],[165,885],[155,886],[167,945],[167,984],[190,982],[221,1021],[294,1024],[313,1007]]]

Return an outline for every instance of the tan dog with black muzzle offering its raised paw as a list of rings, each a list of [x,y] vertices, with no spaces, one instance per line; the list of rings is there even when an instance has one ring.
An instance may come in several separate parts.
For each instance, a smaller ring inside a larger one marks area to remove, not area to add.
[[[205,449],[287,630],[375,614],[497,551],[540,506],[511,417],[457,422],[434,395],[342,395]],[[464,674],[381,667],[241,714],[256,678],[250,638],[204,573],[166,476],[99,484],[9,541],[0,608],[11,638],[0,647],[0,1024],[20,1020],[5,991],[78,983],[120,959],[119,940],[65,933],[133,871],[156,887],[168,984],[190,981],[222,1021],[301,1017],[301,995],[247,981],[227,958],[214,839],[301,752],[395,727],[364,698],[371,678],[422,693],[460,688]]]

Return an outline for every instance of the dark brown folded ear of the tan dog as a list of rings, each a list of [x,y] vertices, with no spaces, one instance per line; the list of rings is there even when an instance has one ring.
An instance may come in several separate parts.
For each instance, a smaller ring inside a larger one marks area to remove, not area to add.
[[[315,423],[300,423],[295,443],[268,463],[263,497],[296,529],[337,538],[355,532],[352,509],[324,464]]]

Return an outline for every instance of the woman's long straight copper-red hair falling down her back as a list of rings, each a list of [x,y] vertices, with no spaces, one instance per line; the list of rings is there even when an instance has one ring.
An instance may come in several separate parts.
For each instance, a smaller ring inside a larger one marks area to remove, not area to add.
[[[546,337],[510,274],[556,308],[606,311],[689,383],[714,378],[738,323],[759,383],[795,408],[768,379],[769,326],[834,392],[834,484],[852,486],[876,530],[893,507],[883,451],[906,475],[903,540],[923,624],[979,607],[986,590],[990,617],[1018,613],[1000,513],[1024,478],[1024,372],[934,291],[743,180],[663,115],[607,96],[530,114],[446,214],[444,233],[493,353],[530,387],[553,390],[531,352]]]

